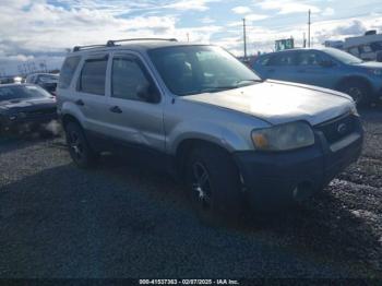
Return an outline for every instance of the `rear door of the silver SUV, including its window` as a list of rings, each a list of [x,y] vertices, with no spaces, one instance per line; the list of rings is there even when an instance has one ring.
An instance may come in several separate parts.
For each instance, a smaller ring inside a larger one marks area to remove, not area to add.
[[[108,53],[96,53],[83,60],[75,87],[76,96],[73,98],[83,115],[84,128],[95,134],[107,134],[108,132],[105,123],[108,59]]]

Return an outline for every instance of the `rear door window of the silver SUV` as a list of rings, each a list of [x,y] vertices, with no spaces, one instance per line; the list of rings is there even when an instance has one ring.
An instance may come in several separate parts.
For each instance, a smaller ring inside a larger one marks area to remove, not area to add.
[[[88,59],[81,71],[79,92],[105,95],[106,68],[108,57]]]

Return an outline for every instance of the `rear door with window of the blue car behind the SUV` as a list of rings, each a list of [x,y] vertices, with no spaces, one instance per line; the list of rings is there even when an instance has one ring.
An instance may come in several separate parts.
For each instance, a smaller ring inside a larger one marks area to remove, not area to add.
[[[296,81],[296,52],[278,52],[271,57],[266,65],[268,79],[295,82]]]

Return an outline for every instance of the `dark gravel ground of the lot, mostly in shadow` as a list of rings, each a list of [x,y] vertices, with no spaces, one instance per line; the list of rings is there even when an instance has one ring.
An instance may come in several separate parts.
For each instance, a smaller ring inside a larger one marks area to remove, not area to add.
[[[360,160],[325,192],[236,227],[198,222],[181,186],[63,139],[0,142],[0,277],[382,277],[382,108]]]

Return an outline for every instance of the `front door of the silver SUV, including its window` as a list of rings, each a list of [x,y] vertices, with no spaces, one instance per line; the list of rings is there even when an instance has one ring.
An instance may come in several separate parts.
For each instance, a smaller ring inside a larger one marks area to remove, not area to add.
[[[107,120],[114,136],[132,144],[165,150],[163,102],[159,90],[138,53],[116,52],[110,62]],[[146,90],[156,100],[143,99]]]

